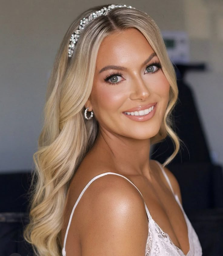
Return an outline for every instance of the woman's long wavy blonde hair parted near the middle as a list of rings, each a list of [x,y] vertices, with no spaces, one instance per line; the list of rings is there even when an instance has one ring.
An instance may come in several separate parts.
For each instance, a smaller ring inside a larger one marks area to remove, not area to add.
[[[163,166],[171,162],[179,150],[180,140],[171,128],[171,111],[178,99],[175,71],[160,30],[150,16],[137,9],[113,9],[108,15],[99,16],[85,27],[73,56],[68,57],[69,39],[80,20],[103,6],[108,5],[95,6],[83,12],[69,27],[58,49],[49,79],[45,122],[38,140],[38,151],[33,156],[35,171],[30,223],[24,230],[25,240],[32,244],[36,255],[61,255],[60,236],[67,190],[98,133],[95,118],[84,118],[84,104],[92,91],[98,49],[106,36],[115,31],[135,28],[154,49],[170,84],[170,93],[160,131],[151,138],[151,144],[160,142],[167,135],[173,140],[175,150]]]

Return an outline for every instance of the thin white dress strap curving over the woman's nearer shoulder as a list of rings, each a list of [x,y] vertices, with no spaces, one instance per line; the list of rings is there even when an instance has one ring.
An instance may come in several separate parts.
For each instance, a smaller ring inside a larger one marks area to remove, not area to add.
[[[73,209],[72,209],[72,212],[71,212],[71,215],[70,215],[70,219],[69,219],[69,222],[68,222],[68,226],[67,226],[67,230],[66,230],[66,233],[65,233],[65,238],[64,238],[64,245],[63,245],[63,249],[62,249],[62,255],[63,255],[63,256],[66,256],[65,244],[66,244],[66,240],[67,240],[68,230],[69,230],[69,228],[70,228],[72,216],[73,216],[74,210],[75,210],[75,208],[76,208],[78,202],[80,201],[80,199],[81,199],[82,195],[84,194],[85,190],[90,186],[90,184],[91,184],[95,179],[98,179],[98,178],[100,178],[100,177],[102,177],[102,176],[105,176],[105,175],[107,175],[107,174],[114,174],[114,175],[121,176],[121,177],[127,179],[133,186],[135,186],[135,184],[133,184],[133,183],[131,182],[131,180],[129,180],[129,179],[126,178],[125,176],[123,176],[123,175],[121,175],[121,174],[118,174],[118,173],[115,173],[115,172],[105,172],[105,173],[99,174],[99,175],[95,176],[93,179],[91,179],[91,180],[88,182],[88,184],[85,186],[85,188],[82,190],[81,194],[79,195],[79,197],[78,197],[78,199],[77,199],[77,201],[76,201],[76,203],[75,203],[75,205],[74,205],[74,207],[73,207]],[[141,194],[141,192],[139,191],[139,189],[138,189],[136,186],[135,186],[135,188],[136,188],[136,189],[138,190],[138,192]],[[141,194],[141,196],[142,196],[142,194]],[[142,196],[142,198],[143,198],[143,196]],[[144,201],[144,204],[145,204],[145,201]],[[147,215],[148,215],[149,212],[148,212],[148,209],[147,209],[147,207],[146,207],[146,204],[145,204],[145,209],[146,209],[146,213],[147,213]],[[149,218],[149,217],[148,217],[148,218]]]

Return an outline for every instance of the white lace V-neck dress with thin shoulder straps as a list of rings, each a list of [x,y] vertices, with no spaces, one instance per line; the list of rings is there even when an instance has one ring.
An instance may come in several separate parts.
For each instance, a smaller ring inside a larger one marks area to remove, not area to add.
[[[156,161],[157,162],[157,161]],[[174,191],[171,187],[171,183],[168,179],[168,176],[166,175],[164,169],[162,168],[161,164],[159,162],[157,162],[159,164],[159,166],[162,169],[162,172],[174,194]],[[64,244],[63,244],[63,249],[62,249],[62,255],[66,256],[66,251],[65,251],[65,244],[66,244],[66,239],[67,239],[67,234],[68,234],[68,230],[70,227],[70,223],[72,220],[72,216],[75,210],[75,207],[77,206],[79,200],[81,199],[83,193],[85,192],[85,190],[88,188],[88,186],[95,180],[98,179],[102,176],[108,175],[108,174],[113,174],[113,175],[118,175],[121,176],[125,179],[127,179],[133,186],[135,186],[128,178],[126,178],[125,176],[115,173],[115,172],[105,172],[102,174],[99,174],[97,176],[95,176],[93,179],[91,179],[88,184],[85,186],[85,188],[82,190],[80,196],[78,197],[78,200],[76,201],[71,215],[70,215],[70,219],[68,222],[68,227],[65,233],[65,238],[64,238]],[[138,189],[135,186],[136,189]],[[138,189],[139,191],[139,189]],[[139,193],[141,194],[141,192],[139,191]],[[141,194],[142,195],[142,194]],[[199,242],[198,236],[194,230],[194,228],[191,225],[190,220],[188,219],[180,201],[177,195],[175,195],[175,199],[178,202],[184,216],[185,216],[185,220],[187,223],[187,228],[188,228],[188,239],[189,239],[189,244],[190,244],[190,249],[188,251],[188,253],[185,255],[183,253],[183,251],[177,247],[170,239],[169,235],[167,233],[165,233],[160,227],[159,225],[155,222],[155,220],[152,219],[149,210],[145,204],[145,209],[146,209],[146,213],[148,216],[148,238],[147,238],[147,242],[146,242],[146,248],[145,248],[145,256],[166,256],[166,255],[170,255],[170,256],[201,256],[202,255],[202,248],[201,248],[201,244]],[[145,203],[145,202],[144,202]]]

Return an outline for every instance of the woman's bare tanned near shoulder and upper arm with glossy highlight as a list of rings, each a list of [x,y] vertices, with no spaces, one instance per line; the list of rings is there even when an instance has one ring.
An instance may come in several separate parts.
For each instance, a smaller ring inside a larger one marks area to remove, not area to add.
[[[81,231],[82,255],[145,255],[148,220],[139,191],[108,174],[88,187],[88,211]]]

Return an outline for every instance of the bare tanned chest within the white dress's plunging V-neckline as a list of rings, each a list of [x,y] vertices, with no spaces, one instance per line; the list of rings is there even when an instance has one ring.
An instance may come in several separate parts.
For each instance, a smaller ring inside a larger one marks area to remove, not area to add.
[[[171,242],[186,255],[190,247],[188,225],[168,183],[163,179],[155,179],[153,184],[135,179],[133,183],[143,195],[152,224],[157,232],[160,231],[159,236],[169,236]]]

